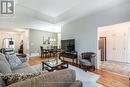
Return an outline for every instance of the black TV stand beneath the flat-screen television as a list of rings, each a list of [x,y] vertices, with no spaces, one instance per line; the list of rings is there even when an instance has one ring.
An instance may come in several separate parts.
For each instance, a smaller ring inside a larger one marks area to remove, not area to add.
[[[76,51],[75,52],[61,52],[59,58],[61,59],[61,57],[63,57],[63,60],[64,60],[64,57],[72,59],[73,63],[75,62],[74,60],[76,60],[76,64],[78,64],[78,53]]]

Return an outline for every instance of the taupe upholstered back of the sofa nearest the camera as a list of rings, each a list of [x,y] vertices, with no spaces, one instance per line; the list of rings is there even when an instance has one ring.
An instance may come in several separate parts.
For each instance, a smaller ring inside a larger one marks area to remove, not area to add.
[[[76,80],[75,71],[64,69],[48,72],[37,77],[17,82],[8,87],[82,87],[82,82]]]

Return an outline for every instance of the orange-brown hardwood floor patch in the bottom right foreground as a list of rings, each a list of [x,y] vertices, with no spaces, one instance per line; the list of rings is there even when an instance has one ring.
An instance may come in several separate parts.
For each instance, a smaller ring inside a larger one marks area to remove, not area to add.
[[[101,76],[97,83],[100,83],[105,87],[130,87],[130,81],[127,77],[105,70],[95,70],[94,73]]]

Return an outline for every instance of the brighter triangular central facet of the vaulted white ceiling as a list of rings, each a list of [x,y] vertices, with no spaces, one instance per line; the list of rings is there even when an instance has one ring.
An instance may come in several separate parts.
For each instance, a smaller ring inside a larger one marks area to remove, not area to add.
[[[20,0],[18,3],[29,7],[45,15],[56,17],[73,6],[79,4],[82,0]]]

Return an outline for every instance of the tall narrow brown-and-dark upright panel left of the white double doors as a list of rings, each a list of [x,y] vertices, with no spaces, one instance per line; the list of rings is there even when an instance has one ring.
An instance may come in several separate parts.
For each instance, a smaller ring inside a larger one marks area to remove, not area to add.
[[[99,50],[101,51],[100,61],[106,61],[106,37],[99,38]]]

